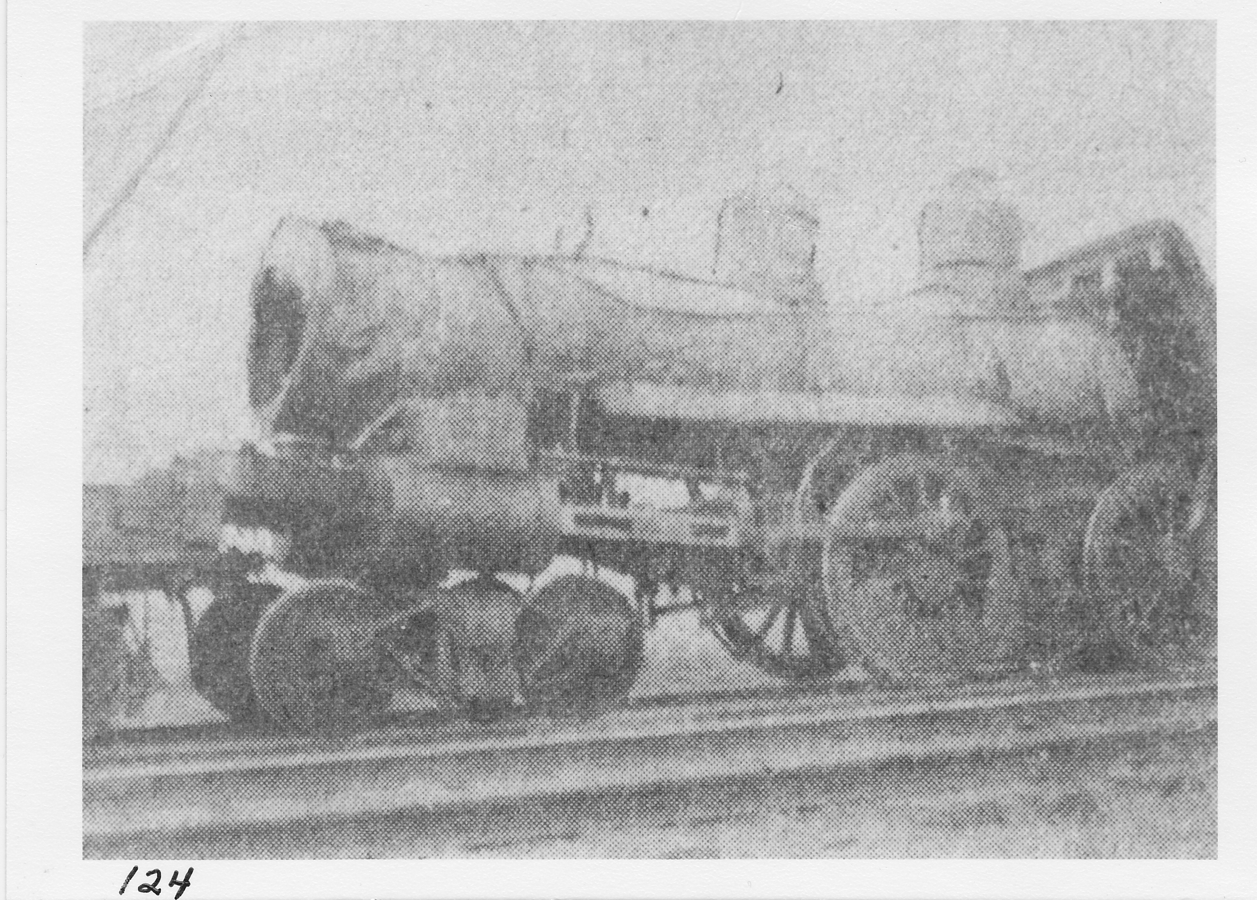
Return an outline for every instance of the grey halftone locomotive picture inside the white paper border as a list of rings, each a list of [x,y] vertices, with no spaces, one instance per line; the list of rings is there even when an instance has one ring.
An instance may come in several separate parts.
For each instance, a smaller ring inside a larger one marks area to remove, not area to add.
[[[1216,859],[1214,35],[87,23],[83,859]]]

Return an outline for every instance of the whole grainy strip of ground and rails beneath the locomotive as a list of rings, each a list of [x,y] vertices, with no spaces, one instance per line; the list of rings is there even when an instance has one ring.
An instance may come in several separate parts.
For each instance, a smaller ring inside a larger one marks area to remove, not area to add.
[[[134,734],[89,748],[84,854],[1212,856],[1213,703],[1109,678]]]

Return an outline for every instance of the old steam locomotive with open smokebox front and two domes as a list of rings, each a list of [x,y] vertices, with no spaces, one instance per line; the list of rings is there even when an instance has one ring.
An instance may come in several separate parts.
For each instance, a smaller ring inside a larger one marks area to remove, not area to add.
[[[661,585],[793,679],[1209,645],[1212,286],[1168,222],[1023,271],[988,187],[953,182],[915,287],[859,306],[818,303],[791,192],[725,205],[711,280],[282,222],[251,292],[263,437],[228,515],[304,580],[222,580],[199,688],[302,728],[401,684],[605,700],[681,608]],[[557,556],[579,574],[535,580]]]

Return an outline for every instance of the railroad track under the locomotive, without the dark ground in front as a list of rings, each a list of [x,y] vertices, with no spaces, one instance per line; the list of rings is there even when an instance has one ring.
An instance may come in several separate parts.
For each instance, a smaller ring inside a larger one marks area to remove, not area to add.
[[[116,742],[84,753],[83,852],[230,857],[294,833],[322,835],[326,845],[338,830],[383,820],[431,823],[548,800],[578,816],[598,797],[709,782],[1159,739],[1214,728],[1216,694],[1204,678],[1075,677],[934,692],[763,692],[579,721]],[[442,852],[440,841],[429,851]]]

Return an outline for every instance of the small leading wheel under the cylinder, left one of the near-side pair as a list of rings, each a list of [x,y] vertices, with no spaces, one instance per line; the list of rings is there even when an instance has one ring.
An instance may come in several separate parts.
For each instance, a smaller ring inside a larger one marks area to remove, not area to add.
[[[312,731],[361,726],[390,699],[383,604],[348,581],[313,581],[272,604],[253,638],[249,677],[275,722]]]

